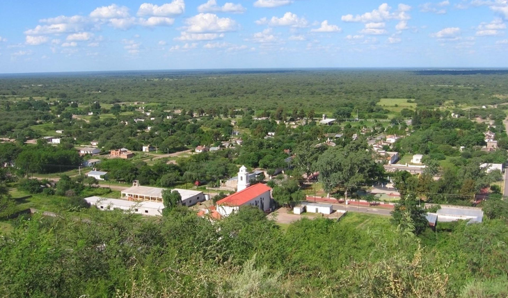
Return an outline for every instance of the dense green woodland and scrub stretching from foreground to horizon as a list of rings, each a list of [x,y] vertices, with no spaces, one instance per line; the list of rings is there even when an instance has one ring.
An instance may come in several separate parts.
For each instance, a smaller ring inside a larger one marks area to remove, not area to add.
[[[10,227],[0,229],[0,295],[506,297],[508,202],[502,173],[480,165],[508,159],[507,79],[409,70],[0,77],[0,224]],[[319,125],[322,114],[337,122]],[[43,139],[57,130],[60,144]],[[486,132],[498,149],[483,149]],[[383,149],[403,160],[422,154],[422,174],[385,171],[368,142],[390,134],[404,138]],[[101,212],[83,198],[112,192],[84,176],[92,156],[77,150],[93,140],[96,167],[109,173],[102,183],[216,188],[246,165],[267,172],[251,182],[270,185],[283,207],[316,185],[365,199],[371,185],[391,181],[401,195],[392,217],[287,225],[250,208],[210,222],[176,207],[178,198],[165,199],[158,218]],[[139,152],[147,144],[157,154]],[[222,148],[161,155],[199,145]],[[106,157],[122,147],[135,157]],[[58,216],[10,218],[34,207],[29,196]],[[484,222],[430,229],[429,203],[480,206]]]

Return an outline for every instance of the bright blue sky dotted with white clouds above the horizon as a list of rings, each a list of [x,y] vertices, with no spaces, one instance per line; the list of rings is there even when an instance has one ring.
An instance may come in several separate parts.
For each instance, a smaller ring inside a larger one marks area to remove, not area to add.
[[[508,0],[0,4],[0,73],[508,67]]]

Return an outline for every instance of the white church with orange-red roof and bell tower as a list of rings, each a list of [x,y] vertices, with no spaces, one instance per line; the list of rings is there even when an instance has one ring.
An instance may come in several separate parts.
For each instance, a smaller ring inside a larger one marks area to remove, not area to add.
[[[254,206],[266,212],[270,210],[270,204],[271,188],[262,183],[251,186],[248,180],[247,168],[241,166],[238,172],[237,192],[217,201],[216,210],[221,216],[228,216],[238,211],[240,206]]]

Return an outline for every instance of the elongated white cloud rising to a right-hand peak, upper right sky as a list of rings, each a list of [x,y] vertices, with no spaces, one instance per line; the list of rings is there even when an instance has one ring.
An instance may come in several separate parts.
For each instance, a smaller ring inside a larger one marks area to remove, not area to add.
[[[408,15],[408,11],[411,10],[411,6],[406,4],[399,4],[397,10],[394,13],[390,13],[392,8],[387,3],[383,3],[378,9],[372,10],[370,13],[364,13],[363,15],[342,15],[341,19],[344,22],[362,22],[362,23],[379,23],[385,22],[390,19],[407,20],[411,19]]]

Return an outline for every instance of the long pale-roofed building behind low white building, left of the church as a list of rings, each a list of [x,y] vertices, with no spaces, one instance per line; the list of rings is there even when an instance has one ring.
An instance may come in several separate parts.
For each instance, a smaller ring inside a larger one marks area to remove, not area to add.
[[[162,201],[162,191],[166,188],[152,188],[150,186],[141,186],[137,180],[132,182],[132,187],[120,192],[122,199],[128,201]],[[175,188],[182,196],[182,206],[193,206],[198,202],[206,201],[205,194],[197,190],[182,190]]]

